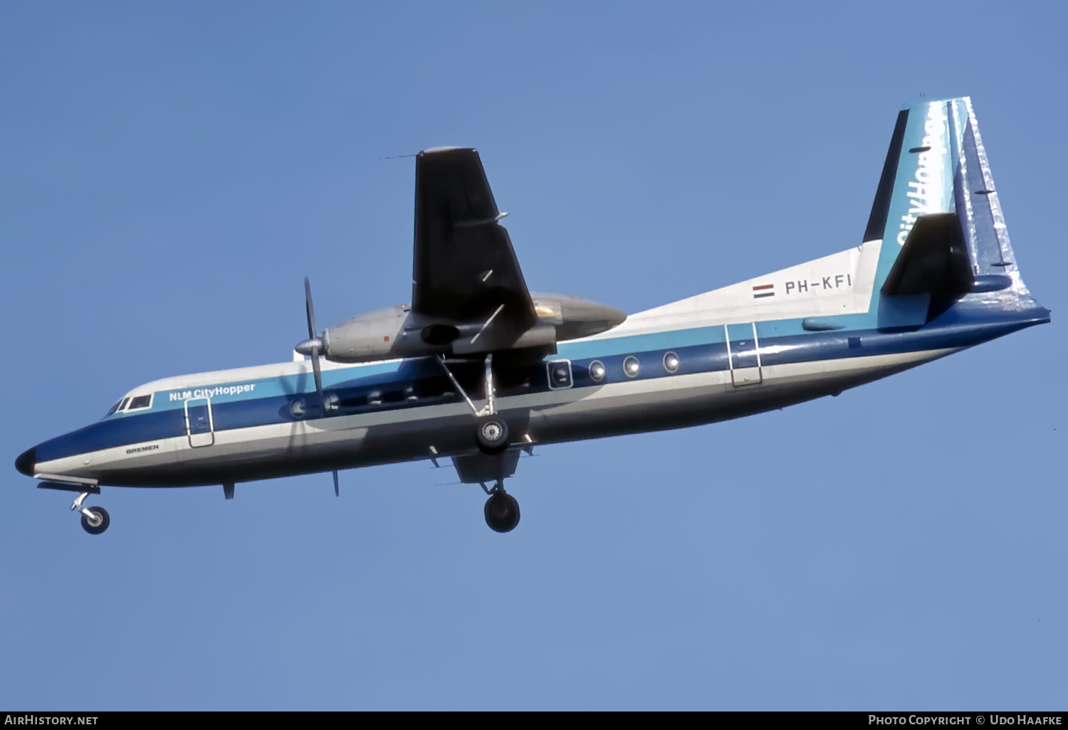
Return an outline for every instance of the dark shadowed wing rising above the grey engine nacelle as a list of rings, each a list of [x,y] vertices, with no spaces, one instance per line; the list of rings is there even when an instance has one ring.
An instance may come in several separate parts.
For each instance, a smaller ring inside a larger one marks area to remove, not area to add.
[[[438,147],[415,156],[412,312],[478,326],[487,349],[508,347],[537,323],[503,217],[476,150]]]

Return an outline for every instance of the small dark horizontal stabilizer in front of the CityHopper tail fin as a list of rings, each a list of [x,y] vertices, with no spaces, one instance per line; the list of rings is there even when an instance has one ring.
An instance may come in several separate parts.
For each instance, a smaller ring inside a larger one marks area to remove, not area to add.
[[[956,213],[920,216],[886,275],[886,297],[932,295],[956,300],[972,290],[972,268]]]

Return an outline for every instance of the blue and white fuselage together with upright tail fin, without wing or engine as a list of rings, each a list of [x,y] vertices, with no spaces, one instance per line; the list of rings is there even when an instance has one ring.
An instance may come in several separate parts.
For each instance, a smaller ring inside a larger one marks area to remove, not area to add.
[[[916,221],[947,213],[971,279],[951,299],[918,264],[893,273]],[[861,245],[560,343],[555,355],[499,371],[496,408],[514,448],[707,424],[1049,319],[1016,267],[970,100],[924,100],[898,117]],[[456,385],[477,400],[485,384],[477,362],[450,367],[455,380],[434,356],[324,362],[325,407],[309,361],[167,378],[16,465],[43,479],[178,487],[464,458],[477,447]]]

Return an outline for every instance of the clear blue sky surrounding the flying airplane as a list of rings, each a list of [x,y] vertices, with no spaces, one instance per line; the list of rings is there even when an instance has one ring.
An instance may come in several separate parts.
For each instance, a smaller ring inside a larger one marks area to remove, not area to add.
[[[1033,328],[759,416],[451,469],[65,493],[9,467],[0,707],[1063,709],[1061,4],[6,3],[9,463],[156,378],[407,301],[475,146],[532,289],[633,313],[860,242],[971,95]]]

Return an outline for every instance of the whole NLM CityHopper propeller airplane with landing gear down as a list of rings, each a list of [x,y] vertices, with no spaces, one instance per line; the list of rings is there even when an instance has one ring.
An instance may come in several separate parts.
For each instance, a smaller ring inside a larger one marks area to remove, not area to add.
[[[40,488],[235,485],[451,458],[507,533],[534,446],[781,409],[1050,321],[1017,266],[969,97],[901,108],[862,241],[625,315],[532,293],[478,153],[415,155],[411,302],[318,331],[293,362],[139,385],[96,423],[21,454]],[[491,485],[491,486],[487,486]]]

